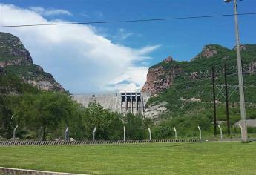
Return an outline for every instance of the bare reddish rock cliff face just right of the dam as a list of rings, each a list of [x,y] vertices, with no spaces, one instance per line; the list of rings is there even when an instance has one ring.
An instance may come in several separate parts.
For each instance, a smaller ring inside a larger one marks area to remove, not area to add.
[[[163,62],[169,64],[173,62],[173,59],[169,56]],[[166,68],[164,65],[160,65],[149,68],[142,92],[149,92],[151,95],[160,93],[173,84],[175,75],[181,71],[181,68],[178,66]]]

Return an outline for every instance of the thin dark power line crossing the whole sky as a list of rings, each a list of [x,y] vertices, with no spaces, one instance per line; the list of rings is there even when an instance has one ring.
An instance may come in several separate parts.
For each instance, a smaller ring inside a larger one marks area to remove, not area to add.
[[[238,13],[238,16],[250,16],[256,15],[256,12],[253,13]],[[0,28],[7,27],[39,27],[39,26],[53,26],[53,25],[73,25],[73,24],[106,24],[106,23],[126,23],[126,22],[159,22],[167,20],[180,20],[180,19],[204,19],[204,18],[216,18],[216,17],[225,17],[225,16],[234,16],[234,14],[220,14],[220,15],[209,15],[209,16],[185,16],[185,17],[176,17],[176,18],[160,18],[160,19],[130,19],[130,20],[116,20],[116,21],[102,21],[102,22],[66,22],[66,23],[51,23],[51,24],[20,24],[20,25],[3,25]]]

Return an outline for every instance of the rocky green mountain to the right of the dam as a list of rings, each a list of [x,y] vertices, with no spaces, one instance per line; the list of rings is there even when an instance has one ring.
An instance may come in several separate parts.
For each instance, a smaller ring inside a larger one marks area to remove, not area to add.
[[[240,50],[246,102],[256,104],[256,44],[242,44]],[[225,103],[224,64],[227,65],[229,102],[237,106],[239,93],[235,47],[228,49],[209,44],[190,62],[178,62],[169,56],[148,69],[142,91],[151,93],[151,98],[148,99],[145,116],[158,118],[163,113],[168,116],[189,114],[194,110],[191,108],[194,104],[197,104],[198,110],[204,110],[203,104],[212,102],[212,66],[216,75],[217,102]]]

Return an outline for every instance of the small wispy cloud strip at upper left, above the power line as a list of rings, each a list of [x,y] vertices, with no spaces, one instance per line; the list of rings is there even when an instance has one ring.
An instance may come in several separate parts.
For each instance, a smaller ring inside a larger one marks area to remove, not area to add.
[[[45,9],[43,7],[29,7],[29,10],[39,13],[42,16],[56,16],[56,15],[71,16],[72,15],[72,13],[70,13],[68,10],[63,10],[63,9],[53,9],[53,8]]]

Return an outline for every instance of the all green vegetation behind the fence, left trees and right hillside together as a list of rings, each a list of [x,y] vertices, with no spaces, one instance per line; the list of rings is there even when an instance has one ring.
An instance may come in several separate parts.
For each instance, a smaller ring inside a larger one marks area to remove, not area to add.
[[[170,88],[148,100],[147,105],[167,102],[165,107],[168,112],[157,121],[131,113],[122,116],[102,108],[96,102],[84,108],[74,102],[68,93],[39,90],[16,76],[36,71],[36,65],[27,65],[26,69],[19,65],[7,66],[4,71],[0,70],[0,137],[11,138],[16,125],[19,125],[17,137],[20,139],[63,139],[67,126],[70,137],[74,139],[92,139],[94,127],[97,128],[96,139],[122,139],[123,126],[127,139],[148,139],[148,127],[151,127],[153,139],[173,139],[174,126],[179,137],[197,137],[197,125],[202,128],[203,135],[212,136],[212,65],[217,76],[217,120],[222,121],[225,133],[224,63],[228,65],[232,134],[240,133],[234,127],[234,123],[240,119],[235,52],[219,45],[212,46],[217,54],[209,59],[203,58],[203,53],[200,53],[191,62],[161,62],[154,65],[162,65],[166,70],[171,67],[182,67],[183,70],[175,75]],[[242,55],[248,119],[256,119],[256,79],[255,73],[248,69],[249,64],[255,61],[255,50],[255,45],[247,44]],[[198,73],[197,79],[191,79],[193,72]],[[249,128],[249,133],[256,133],[255,128]]]

